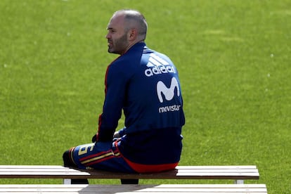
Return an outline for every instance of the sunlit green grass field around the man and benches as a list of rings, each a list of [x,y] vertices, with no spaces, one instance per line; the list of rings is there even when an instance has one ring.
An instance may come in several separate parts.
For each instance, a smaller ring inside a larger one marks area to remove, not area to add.
[[[121,8],[145,15],[147,45],[179,69],[181,165],[256,164],[259,181],[246,183],[291,193],[289,0],[0,1],[0,164],[63,164],[91,141],[117,57],[106,27]],[[0,180],[16,182],[61,183]]]

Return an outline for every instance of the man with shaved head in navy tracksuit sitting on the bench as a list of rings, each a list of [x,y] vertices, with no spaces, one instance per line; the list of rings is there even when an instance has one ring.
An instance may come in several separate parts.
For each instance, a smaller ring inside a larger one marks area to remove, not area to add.
[[[172,61],[145,45],[141,13],[121,10],[108,23],[108,52],[119,54],[105,75],[105,101],[93,143],[63,154],[66,167],[146,173],[174,169],[185,124],[178,72]],[[116,131],[124,112],[124,128]],[[72,180],[72,183],[88,183]],[[138,183],[123,180],[122,183]]]

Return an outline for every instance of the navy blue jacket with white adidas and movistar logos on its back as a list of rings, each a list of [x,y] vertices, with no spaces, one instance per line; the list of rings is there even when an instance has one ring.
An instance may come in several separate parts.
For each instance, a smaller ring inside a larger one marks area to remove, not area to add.
[[[131,167],[146,172],[148,166],[178,164],[185,124],[178,72],[167,56],[145,43],[135,44],[108,66],[97,141],[112,141],[122,110],[125,127],[118,148]]]

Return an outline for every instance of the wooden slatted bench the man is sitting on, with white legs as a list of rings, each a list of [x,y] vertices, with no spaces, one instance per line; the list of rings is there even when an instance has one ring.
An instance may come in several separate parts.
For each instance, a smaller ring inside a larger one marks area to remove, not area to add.
[[[159,173],[127,174],[101,170],[80,170],[54,165],[0,165],[0,179],[229,179],[244,183],[259,179],[256,166],[179,166]]]

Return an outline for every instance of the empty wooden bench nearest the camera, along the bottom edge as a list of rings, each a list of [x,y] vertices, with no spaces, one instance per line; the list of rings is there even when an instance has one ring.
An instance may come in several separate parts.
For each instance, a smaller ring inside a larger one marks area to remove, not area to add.
[[[267,193],[264,184],[0,185],[0,193]]]

